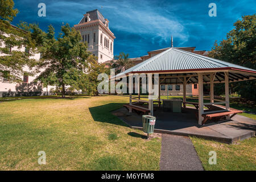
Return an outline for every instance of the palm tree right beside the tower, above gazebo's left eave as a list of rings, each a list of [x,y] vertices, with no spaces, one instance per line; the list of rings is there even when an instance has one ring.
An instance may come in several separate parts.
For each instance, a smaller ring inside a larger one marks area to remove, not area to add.
[[[129,54],[125,54],[123,52],[120,52],[119,55],[114,56],[114,60],[110,62],[110,65],[112,68],[117,68],[117,73],[123,72],[126,69],[129,69],[132,65],[133,62],[128,58]]]

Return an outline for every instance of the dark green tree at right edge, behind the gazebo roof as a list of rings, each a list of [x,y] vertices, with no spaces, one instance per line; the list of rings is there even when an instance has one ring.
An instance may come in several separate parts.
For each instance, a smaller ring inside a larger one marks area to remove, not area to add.
[[[226,39],[214,43],[209,56],[229,63],[256,69],[256,15],[242,16],[234,23]],[[256,100],[255,80],[234,82],[230,85],[233,92],[249,100]]]

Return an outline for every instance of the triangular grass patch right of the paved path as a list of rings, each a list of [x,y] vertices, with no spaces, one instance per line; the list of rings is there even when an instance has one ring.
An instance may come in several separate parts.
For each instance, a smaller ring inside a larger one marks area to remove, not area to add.
[[[256,170],[256,137],[237,144],[224,144],[191,137],[205,170]],[[210,165],[209,152],[216,151],[217,164]]]

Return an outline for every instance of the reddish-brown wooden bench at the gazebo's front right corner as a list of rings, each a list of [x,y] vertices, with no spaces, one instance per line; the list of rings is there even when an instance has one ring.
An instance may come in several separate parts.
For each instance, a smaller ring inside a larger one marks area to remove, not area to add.
[[[225,118],[226,116],[229,116],[230,114],[232,114],[230,116],[230,119],[232,117],[234,117],[234,115],[236,115],[237,113],[243,113],[242,110],[237,110],[237,109],[233,109],[230,108],[229,111],[221,111],[218,113],[211,113],[211,114],[202,114],[202,117],[204,117],[204,120],[202,122],[202,125],[204,125],[205,122],[207,122],[208,119],[213,119],[214,121],[221,121],[223,118]]]

